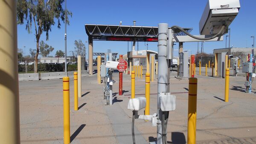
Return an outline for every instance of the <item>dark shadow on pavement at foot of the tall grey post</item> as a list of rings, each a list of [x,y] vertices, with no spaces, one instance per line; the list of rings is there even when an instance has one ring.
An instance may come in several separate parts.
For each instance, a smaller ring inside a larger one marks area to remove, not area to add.
[[[168,137],[168,135],[167,135]],[[148,137],[149,142],[157,141],[153,136]],[[167,141],[168,144],[186,144],[184,133],[172,132],[172,141]]]

